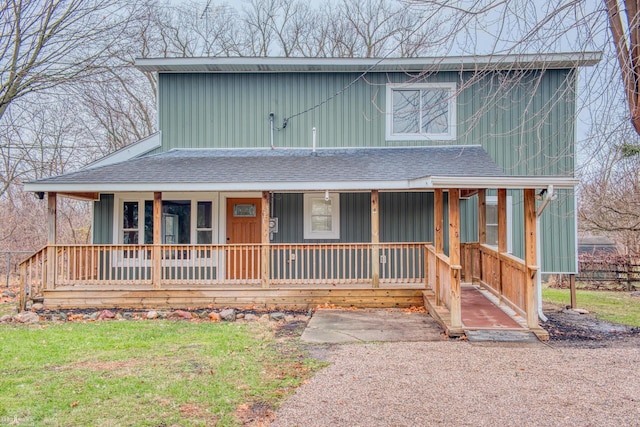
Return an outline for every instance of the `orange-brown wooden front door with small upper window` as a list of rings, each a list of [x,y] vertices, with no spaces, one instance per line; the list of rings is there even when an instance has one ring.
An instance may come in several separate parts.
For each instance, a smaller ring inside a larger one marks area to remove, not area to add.
[[[261,199],[227,199],[227,278],[259,279]],[[256,246],[245,246],[256,244]],[[240,245],[240,246],[235,246]]]

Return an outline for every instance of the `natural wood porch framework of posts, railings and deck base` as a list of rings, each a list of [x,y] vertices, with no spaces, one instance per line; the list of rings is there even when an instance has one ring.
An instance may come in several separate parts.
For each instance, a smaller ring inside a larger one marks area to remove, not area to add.
[[[448,193],[448,224],[445,224],[444,193]],[[486,189],[467,190],[459,188],[436,188],[434,192],[434,242],[381,243],[379,240],[378,191],[371,191],[371,241],[339,244],[271,244],[269,241],[270,193],[262,192],[259,200],[260,242],[229,245],[163,245],[160,221],[162,193],[155,192],[153,198],[154,235],[152,245],[58,245],[56,243],[56,193],[48,193],[49,239],[45,249],[21,264],[23,288],[31,295],[44,294],[45,306],[54,301],[61,292],[84,294],[85,304],[91,305],[100,292],[110,304],[117,304],[117,295],[134,290],[136,298],[144,301],[145,292],[157,301],[153,291],[182,293],[175,301],[195,303],[201,298],[207,305],[213,298],[225,301],[224,292],[238,295],[246,290],[246,298],[235,297],[242,305],[262,301],[278,301],[279,295],[289,295],[291,290],[300,301],[314,292],[313,302],[325,301],[336,305],[357,303],[345,297],[336,297],[332,288],[341,292],[369,287],[380,289],[371,292],[369,302],[375,305],[376,298],[389,296],[389,289],[405,289],[415,298],[417,288],[422,289],[425,305],[439,319],[451,335],[464,333],[462,322],[461,283],[476,283],[494,293],[500,301],[526,318],[529,329],[537,330],[538,317],[535,299],[535,279],[538,274],[536,260],[536,206],[535,189],[525,188],[524,199],[524,253],[523,260],[507,253],[506,189],[498,193],[498,245],[486,244]],[[478,242],[462,243],[460,234],[461,194],[477,194]],[[258,206],[256,206],[258,216]],[[445,253],[445,227],[448,228],[448,253]],[[230,250],[238,254],[226,256]],[[244,255],[242,255],[244,254]],[[289,255],[287,255],[289,254]],[[316,270],[292,268],[287,256],[296,259],[322,260]],[[259,256],[258,256],[259,255]],[[382,259],[385,263],[382,263]],[[178,262],[179,261],[179,262]],[[246,263],[251,274],[246,277],[222,276],[234,270],[238,264]],[[390,266],[393,266],[391,268]],[[117,267],[117,268],[115,268]],[[117,270],[117,273],[115,271]],[[256,285],[266,293],[256,293]],[[206,292],[209,292],[207,294]],[[98,293],[96,293],[98,292]],[[203,293],[204,292],[204,293]],[[318,293],[319,292],[319,293]],[[385,293],[386,292],[386,293]],[[394,291],[396,292],[396,291]],[[157,294],[158,292],[155,292]],[[91,295],[91,297],[89,297]],[[198,297],[200,295],[200,297]],[[207,296],[209,295],[209,296]],[[251,297],[254,295],[254,297]],[[319,295],[319,296],[318,296]],[[398,295],[399,296],[399,295]],[[399,296],[397,306],[407,301]],[[71,300],[71,299],[69,299]],[[280,298],[281,301],[282,298]],[[402,300],[402,301],[401,301]],[[59,300],[58,300],[59,301]],[[137,301],[137,300],[136,300]],[[64,302],[60,302],[64,305]],[[383,306],[390,306],[388,299]]]

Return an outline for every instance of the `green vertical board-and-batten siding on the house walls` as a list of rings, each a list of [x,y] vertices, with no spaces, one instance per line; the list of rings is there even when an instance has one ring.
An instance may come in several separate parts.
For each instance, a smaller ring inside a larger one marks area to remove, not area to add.
[[[325,101],[358,76],[354,73],[160,74],[158,102],[162,150],[269,147],[269,113],[275,114],[275,126],[281,128],[285,117]],[[460,90],[456,99],[456,141],[385,140],[386,83],[408,80],[457,83]],[[507,174],[571,175],[575,160],[574,112],[573,70],[504,71],[480,77],[463,73],[462,80],[459,73],[453,72],[427,74],[422,78],[402,73],[369,73],[344,94],[307,113],[291,117],[286,129],[274,132],[273,143],[277,148],[310,147],[311,130],[315,127],[318,147],[480,144]],[[521,193],[511,194],[514,201],[513,225],[517,230],[522,227]],[[302,198],[301,195],[281,197]],[[360,213],[355,207],[362,202],[359,197],[364,195],[342,198],[343,213],[347,208]],[[381,197],[382,215],[385,209],[389,214],[391,210],[397,214],[406,212],[398,205],[403,202],[394,197],[408,196],[389,195],[388,204],[384,203],[386,196]],[[411,203],[418,202],[414,200]],[[422,203],[430,202],[423,200]],[[475,198],[462,202],[467,218],[475,217],[474,204]],[[294,206],[302,206],[302,201],[294,202]],[[420,205],[420,208],[425,207]],[[342,218],[350,218],[354,211],[349,212],[348,217]],[[347,222],[348,228],[342,225],[342,241],[369,240],[369,213],[362,213],[364,215],[357,224]],[[543,271],[575,270],[573,214],[574,198],[570,191],[560,192],[558,201],[544,213]],[[287,212],[281,215],[287,217]],[[423,223],[417,227],[408,225],[411,221],[407,222],[406,218],[389,230],[382,222],[381,239],[418,241],[426,236],[426,240],[431,240],[429,224],[433,223],[433,218],[425,221],[428,231],[423,231]],[[283,229],[283,225],[281,222],[282,233],[276,238],[278,241],[304,241],[301,225],[297,224],[291,230]],[[412,235],[408,230],[412,230]],[[464,224],[463,239],[471,241],[475,236],[476,225],[473,222]],[[520,233],[513,233],[513,248],[514,253],[521,256]]]

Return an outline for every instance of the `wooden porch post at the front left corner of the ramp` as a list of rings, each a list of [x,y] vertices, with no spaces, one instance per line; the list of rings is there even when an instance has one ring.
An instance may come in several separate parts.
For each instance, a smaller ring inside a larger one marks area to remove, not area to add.
[[[449,189],[449,263],[451,279],[451,327],[462,327],[460,300],[460,190]]]

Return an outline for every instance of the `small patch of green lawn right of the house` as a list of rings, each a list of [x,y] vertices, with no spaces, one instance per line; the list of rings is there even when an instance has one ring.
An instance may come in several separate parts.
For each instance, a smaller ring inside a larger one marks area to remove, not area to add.
[[[571,302],[568,289],[543,288],[545,302],[567,306]],[[589,310],[602,320],[629,326],[640,326],[640,298],[631,297],[628,292],[576,291],[579,308]]]

